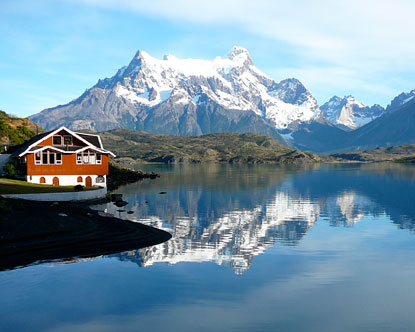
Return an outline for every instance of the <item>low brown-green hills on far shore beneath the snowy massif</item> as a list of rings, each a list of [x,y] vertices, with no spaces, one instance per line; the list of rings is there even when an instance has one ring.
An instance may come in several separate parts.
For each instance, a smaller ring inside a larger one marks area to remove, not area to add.
[[[303,163],[319,162],[313,153],[292,150],[260,134],[218,133],[171,136],[116,129],[100,133],[106,149],[131,162]]]

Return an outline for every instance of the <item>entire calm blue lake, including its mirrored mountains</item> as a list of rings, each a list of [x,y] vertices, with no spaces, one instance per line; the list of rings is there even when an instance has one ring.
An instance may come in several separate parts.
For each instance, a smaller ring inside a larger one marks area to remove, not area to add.
[[[415,166],[145,167],[95,208],[173,238],[1,272],[0,331],[415,329]]]

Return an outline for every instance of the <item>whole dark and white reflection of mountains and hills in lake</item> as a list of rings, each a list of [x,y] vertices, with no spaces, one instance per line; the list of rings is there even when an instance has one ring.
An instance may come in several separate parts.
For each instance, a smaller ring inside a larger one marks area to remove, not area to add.
[[[168,230],[163,244],[111,257],[140,266],[159,262],[215,262],[235,273],[275,242],[296,245],[317,222],[352,227],[364,216],[386,214],[414,229],[415,167],[394,164],[166,167],[160,179],[127,185],[128,215]],[[166,195],[160,195],[166,191]],[[100,206],[102,208],[102,206]]]

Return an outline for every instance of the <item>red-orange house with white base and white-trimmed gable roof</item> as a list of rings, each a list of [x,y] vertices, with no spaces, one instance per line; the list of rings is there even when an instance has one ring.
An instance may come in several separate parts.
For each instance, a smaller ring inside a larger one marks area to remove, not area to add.
[[[23,143],[11,159],[28,182],[106,187],[109,156],[98,135],[60,127]]]

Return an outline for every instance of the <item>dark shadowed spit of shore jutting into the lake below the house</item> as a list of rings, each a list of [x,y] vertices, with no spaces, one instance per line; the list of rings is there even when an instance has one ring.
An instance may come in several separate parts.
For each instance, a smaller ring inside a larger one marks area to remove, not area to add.
[[[0,271],[139,249],[170,238],[168,232],[91,210],[88,203],[0,198]]]

